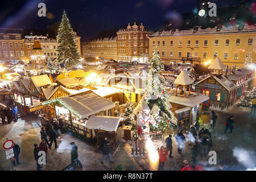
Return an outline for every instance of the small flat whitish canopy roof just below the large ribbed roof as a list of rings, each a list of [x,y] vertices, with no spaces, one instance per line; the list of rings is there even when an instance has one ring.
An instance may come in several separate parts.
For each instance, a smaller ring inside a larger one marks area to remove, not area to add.
[[[88,121],[85,124],[85,127],[88,129],[94,129],[94,130],[98,129],[98,130],[104,130],[104,131],[117,131],[119,122],[122,119],[123,118],[121,117],[93,115],[88,119]]]

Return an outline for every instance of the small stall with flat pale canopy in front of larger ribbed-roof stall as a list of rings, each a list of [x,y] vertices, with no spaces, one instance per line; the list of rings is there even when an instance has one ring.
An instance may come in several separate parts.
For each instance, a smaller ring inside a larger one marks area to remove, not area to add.
[[[100,144],[100,140],[107,137],[110,141],[110,146],[113,147],[112,152],[117,149],[117,128],[119,125],[119,122],[123,118],[121,117],[110,117],[110,116],[104,116],[104,115],[93,115],[88,119],[86,122],[85,127],[88,129],[95,130],[96,133],[96,151]],[[113,154],[112,153],[112,154]]]

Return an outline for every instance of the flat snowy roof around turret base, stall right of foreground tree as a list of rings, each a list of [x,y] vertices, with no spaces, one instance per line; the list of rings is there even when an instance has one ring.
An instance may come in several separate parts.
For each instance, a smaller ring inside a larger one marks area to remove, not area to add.
[[[170,102],[189,107],[197,106],[202,102],[209,100],[208,96],[201,93],[191,92],[191,96],[186,97],[175,96],[175,89],[170,89],[168,93],[170,94]]]

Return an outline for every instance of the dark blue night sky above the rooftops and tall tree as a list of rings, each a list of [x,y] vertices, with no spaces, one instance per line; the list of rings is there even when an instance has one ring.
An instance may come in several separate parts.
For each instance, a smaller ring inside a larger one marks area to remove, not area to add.
[[[44,2],[47,17],[36,15],[38,3]],[[240,0],[212,1],[220,6],[239,4]],[[246,1],[251,3],[253,1]],[[173,11],[196,11],[197,0],[2,0],[0,28],[39,28],[60,23],[66,11],[72,27],[77,29],[82,41],[97,36],[103,30],[121,28],[136,18],[144,26],[156,31],[173,15]]]

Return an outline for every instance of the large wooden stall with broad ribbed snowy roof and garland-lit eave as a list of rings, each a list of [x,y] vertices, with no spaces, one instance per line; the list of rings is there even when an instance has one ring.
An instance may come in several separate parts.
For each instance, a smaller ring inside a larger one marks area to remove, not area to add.
[[[77,134],[93,139],[95,130],[85,127],[91,115],[111,115],[114,102],[99,96],[92,90],[55,98],[43,102],[43,105],[54,103],[56,117],[63,118],[65,127]]]

